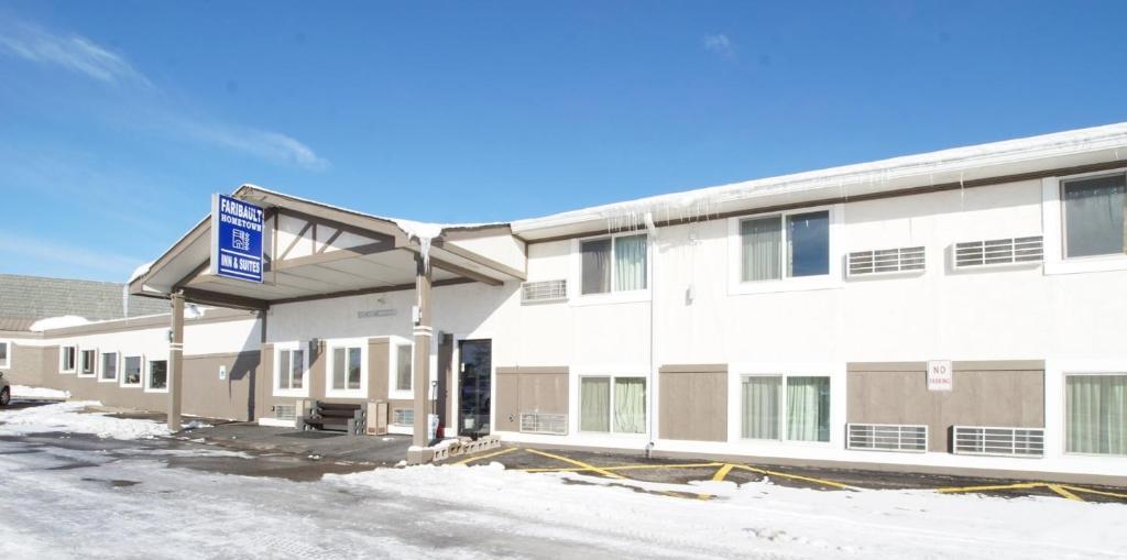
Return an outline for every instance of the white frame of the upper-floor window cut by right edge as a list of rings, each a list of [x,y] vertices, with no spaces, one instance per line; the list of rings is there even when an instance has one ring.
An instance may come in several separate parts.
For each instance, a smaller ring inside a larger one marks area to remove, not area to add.
[[[1127,270],[1127,251],[1122,255],[1092,255],[1067,257],[1067,232],[1065,231],[1064,186],[1082,179],[1127,176],[1127,167],[1092,171],[1088,174],[1062,175],[1041,179],[1041,224],[1044,228],[1045,274],[1083,274],[1110,270]]]

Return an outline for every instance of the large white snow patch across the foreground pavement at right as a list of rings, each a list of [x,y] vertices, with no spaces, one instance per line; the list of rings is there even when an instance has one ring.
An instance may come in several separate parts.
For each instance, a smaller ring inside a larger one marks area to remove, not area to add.
[[[926,490],[822,491],[766,481],[663,485],[488,466],[415,466],[327,475],[380,495],[445,501],[495,528],[632,543],[646,557],[1093,558],[1127,548],[1127,506]],[[569,483],[570,482],[570,483]],[[620,488],[625,486],[628,488]],[[631,488],[632,487],[632,488]],[[707,494],[711,500],[650,492]]]

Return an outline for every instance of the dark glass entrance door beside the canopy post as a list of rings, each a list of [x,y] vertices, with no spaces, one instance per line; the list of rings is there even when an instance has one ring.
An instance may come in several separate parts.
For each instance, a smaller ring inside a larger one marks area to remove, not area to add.
[[[477,439],[489,434],[492,340],[462,340],[458,350],[458,435]]]

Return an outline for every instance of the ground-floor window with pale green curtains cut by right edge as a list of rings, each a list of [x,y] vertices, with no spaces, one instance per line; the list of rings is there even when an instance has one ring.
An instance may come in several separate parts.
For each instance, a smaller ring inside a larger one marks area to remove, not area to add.
[[[1066,379],[1068,452],[1127,455],[1127,374]]]

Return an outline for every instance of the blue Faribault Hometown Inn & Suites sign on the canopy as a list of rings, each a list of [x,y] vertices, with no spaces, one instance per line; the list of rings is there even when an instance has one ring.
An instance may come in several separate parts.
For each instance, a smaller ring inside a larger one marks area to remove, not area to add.
[[[212,274],[263,282],[263,208],[212,196]]]

